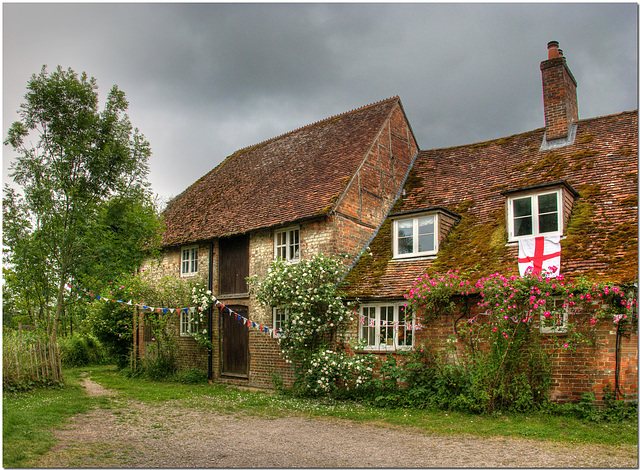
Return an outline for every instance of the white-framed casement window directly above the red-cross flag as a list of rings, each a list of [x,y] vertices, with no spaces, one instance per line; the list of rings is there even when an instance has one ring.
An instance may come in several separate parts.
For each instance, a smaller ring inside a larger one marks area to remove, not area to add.
[[[562,235],[562,197],[555,190],[512,196],[507,202],[509,239]]]

